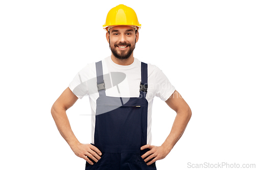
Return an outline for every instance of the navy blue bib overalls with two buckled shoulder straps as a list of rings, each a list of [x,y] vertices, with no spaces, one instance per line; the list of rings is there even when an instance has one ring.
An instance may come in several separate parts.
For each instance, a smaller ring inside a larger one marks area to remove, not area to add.
[[[86,162],[86,170],[156,170],[155,162],[147,165],[140,150],[147,141],[147,64],[141,62],[140,96],[118,98],[106,96],[102,62],[96,63],[99,98],[96,101],[94,145],[102,155],[93,165]]]

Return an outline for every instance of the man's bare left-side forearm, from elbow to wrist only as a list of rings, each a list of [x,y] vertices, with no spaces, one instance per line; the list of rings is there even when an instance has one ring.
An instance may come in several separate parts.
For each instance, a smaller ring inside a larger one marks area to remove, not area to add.
[[[66,109],[53,106],[51,109],[51,113],[59,133],[68,142],[70,147],[78,143],[79,141],[77,140],[71,129],[69,119],[66,114]]]

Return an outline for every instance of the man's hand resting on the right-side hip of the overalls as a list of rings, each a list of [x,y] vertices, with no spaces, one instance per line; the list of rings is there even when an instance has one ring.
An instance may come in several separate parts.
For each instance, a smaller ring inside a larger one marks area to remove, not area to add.
[[[152,163],[156,162],[157,160],[163,159],[166,157],[166,155],[168,155],[168,152],[164,149],[163,146],[157,147],[154,145],[146,144],[146,145],[142,146],[140,150],[144,150],[147,148],[150,149],[150,151],[147,151],[144,155],[142,155],[141,156],[142,159],[144,159],[148,155],[149,156],[146,159],[144,159],[145,162],[154,158],[150,162],[147,162],[147,165],[151,165]]]

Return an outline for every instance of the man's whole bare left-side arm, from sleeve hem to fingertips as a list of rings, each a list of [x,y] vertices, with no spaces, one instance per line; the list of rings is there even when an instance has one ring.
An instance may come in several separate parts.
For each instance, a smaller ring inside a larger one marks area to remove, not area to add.
[[[66,114],[66,111],[75,104],[77,99],[77,96],[68,87],[53,104],[51,113],[59,133],[68,142],[76,156],[85,159],[90,164],[93,164],[88,157],[97,162],[100,159],[100,151],[92,144],[82,144],[77,140]]]

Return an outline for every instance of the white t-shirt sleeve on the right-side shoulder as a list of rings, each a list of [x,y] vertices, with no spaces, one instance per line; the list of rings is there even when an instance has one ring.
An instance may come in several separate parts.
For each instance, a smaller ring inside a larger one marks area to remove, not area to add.
[[[163,71],[157,66],[155,66],[154,69],[154,76],[154,81],[156,83],[156,96],[158,96],[162,101],[166,101],[174,93],[175,87],[164,75]]]

